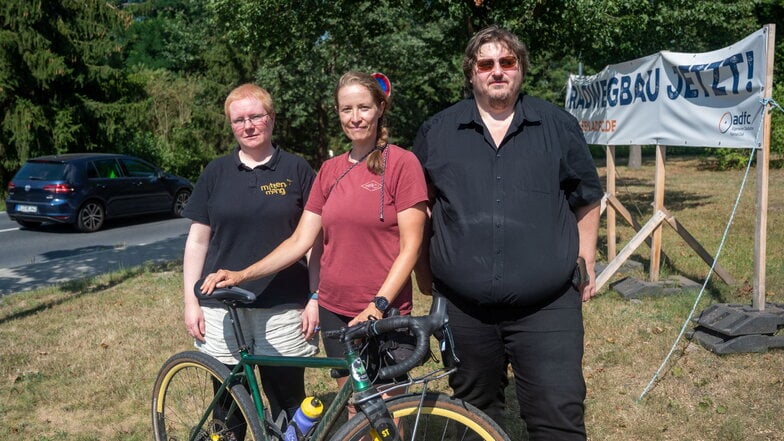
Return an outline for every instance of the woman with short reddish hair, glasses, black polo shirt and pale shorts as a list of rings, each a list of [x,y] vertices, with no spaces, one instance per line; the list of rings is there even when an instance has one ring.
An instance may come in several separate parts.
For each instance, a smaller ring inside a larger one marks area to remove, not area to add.
[[[183,260],[184,318],[199,350],[233,365],[237,343],[226,310],[219,302],[200,304],[194,285],[219,268],[245,268],[291,236],[315,172],[272,142],[275,109],[263,88],[244,84],[232,90],[224,113],[237,145],[207,165],[183,213],[193,221]],[[237,283],[257,295],[248,308],[238,310],[254,354],[311,356],[318,351],[313,338],[318,304],[309,300],[318,286],[318,258],[308,266],[304,254],[279,272]],[[320,247],[313,254],[320,254]],[[281,410],[293,417],[305,397],[304,368],[262,367],[261,379],[273,418]]]

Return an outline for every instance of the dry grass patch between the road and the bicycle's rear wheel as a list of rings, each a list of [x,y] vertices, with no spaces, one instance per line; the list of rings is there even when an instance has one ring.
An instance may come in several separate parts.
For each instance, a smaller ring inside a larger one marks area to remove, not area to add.
[[[0,438],[148,439],[151,380],[189,347],[181,270],[3,298]]]

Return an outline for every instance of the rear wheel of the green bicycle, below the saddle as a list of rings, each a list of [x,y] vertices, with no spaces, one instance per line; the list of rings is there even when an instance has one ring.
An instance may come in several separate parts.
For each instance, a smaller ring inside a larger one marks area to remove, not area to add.
[[[181,352],[164,363],[152,391],[152,427],[156,441],[258,441],[264,439],[253,400],[245,386],[226,389],[207,415],[229,369],[201,352]]]

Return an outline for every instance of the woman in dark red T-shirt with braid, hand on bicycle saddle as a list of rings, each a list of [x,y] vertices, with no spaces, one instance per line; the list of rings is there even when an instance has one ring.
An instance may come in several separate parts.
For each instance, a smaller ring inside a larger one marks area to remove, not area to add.
[[[416,157],[388,143],[389,91],[381,74],[348,72],[340,78],[335,109],[351,149],[322,165],[290,238],[248,268],[210,274],[204,291],[280,271],[318,243],[323,231],[318,303],[325,329],[381,318],[392,307],[411,311],[427,188]],[[340,342],[324,345],[328,356],[342,356]]]

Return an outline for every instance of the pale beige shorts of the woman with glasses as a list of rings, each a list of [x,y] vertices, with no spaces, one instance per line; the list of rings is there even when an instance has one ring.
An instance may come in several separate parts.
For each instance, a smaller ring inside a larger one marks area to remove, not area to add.
[[[237,364],[240,359],[234,328],[225,308],[205,307],[204,322],[207,328],[202,343],[196,348],[212,355],[224,364]],[[302,309],[298,305],[280,305],[273,308],[237,308],[245,342],[254,355],[282,355],[310,357],[318,352],[318,337],[305,340],[302,333]]]

